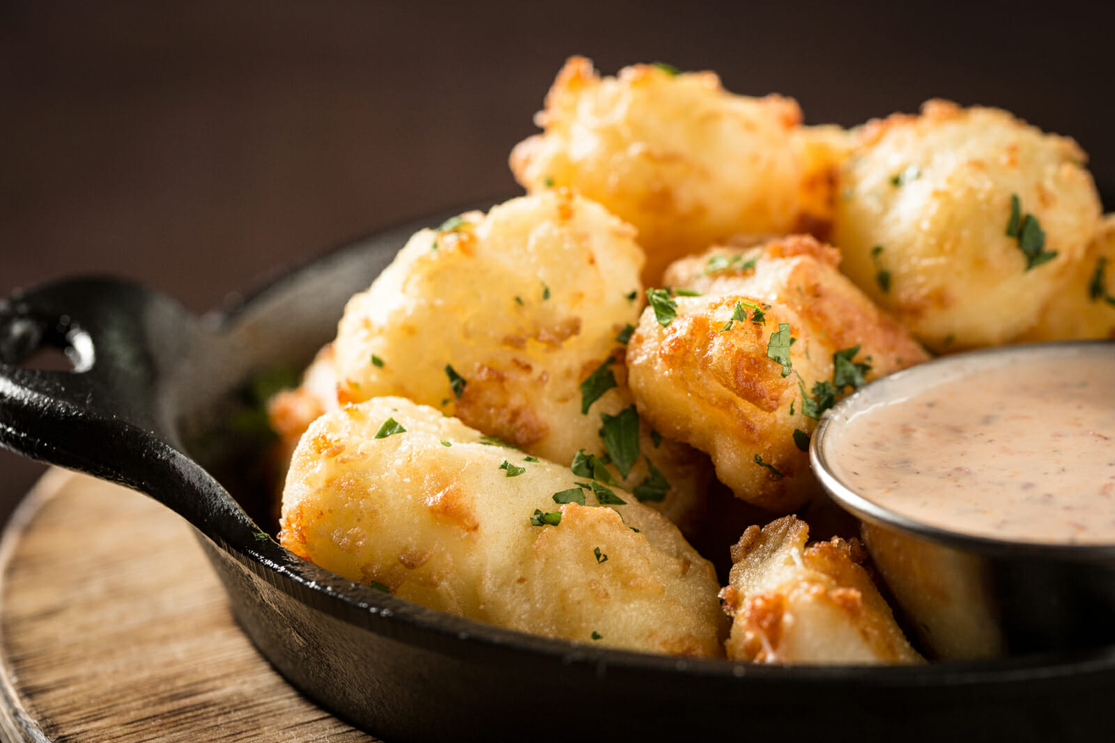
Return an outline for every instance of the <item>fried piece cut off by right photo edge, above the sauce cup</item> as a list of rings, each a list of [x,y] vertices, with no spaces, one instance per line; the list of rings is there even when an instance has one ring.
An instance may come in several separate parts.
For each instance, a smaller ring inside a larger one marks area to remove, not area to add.
[[[1115,339],[1115,214],[1108,214],[1068,283],[1024,341]]]

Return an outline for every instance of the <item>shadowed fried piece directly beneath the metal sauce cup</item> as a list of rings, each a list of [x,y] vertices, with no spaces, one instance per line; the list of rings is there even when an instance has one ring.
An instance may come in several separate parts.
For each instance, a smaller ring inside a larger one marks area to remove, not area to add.
[[[1002,654],[983,560],[870,524],[860,534],[927,652],[951,659]]]

